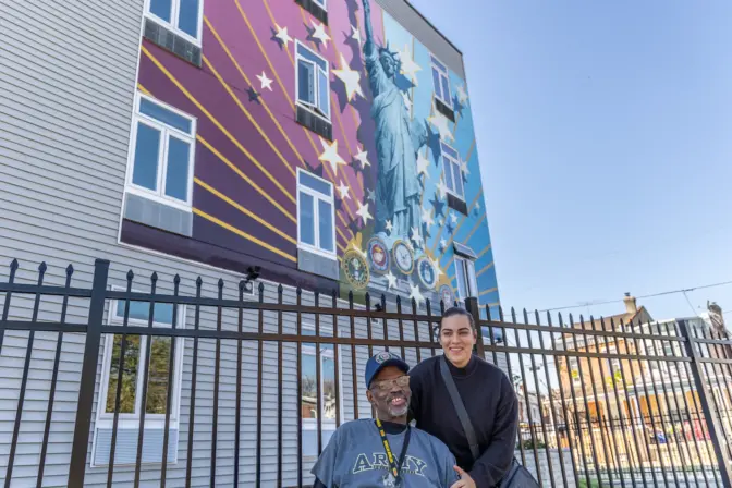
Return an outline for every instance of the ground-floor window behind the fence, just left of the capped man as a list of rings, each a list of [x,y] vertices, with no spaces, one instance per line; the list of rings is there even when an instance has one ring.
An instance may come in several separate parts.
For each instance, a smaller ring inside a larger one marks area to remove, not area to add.
[[[321,332],[325,328],[321,329]],[[328,331],[332,335],[331,331]],[[303,324],[304,335],[315,335],[315,328]],[[320,347],[320,411],[318,411],[318,375],[316,347]],[[320,416],[322,446],[327,446],[335,431],[335,349],[333,344],[303,343],[301,378],[301,412],[303,418],[303,455],[315,460],[318,456],[318,416]],[[338,378],[342,378],[340,374]],[[342,388],[339,389],[343,391]]]

